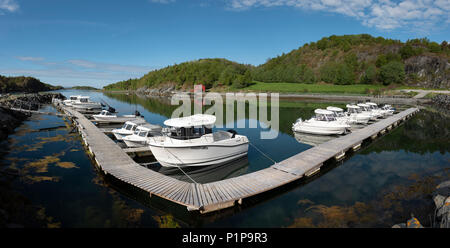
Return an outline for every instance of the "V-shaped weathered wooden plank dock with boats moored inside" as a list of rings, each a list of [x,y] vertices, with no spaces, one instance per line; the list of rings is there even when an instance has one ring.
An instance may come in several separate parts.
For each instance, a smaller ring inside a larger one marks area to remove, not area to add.
[[[84,115],[70,108],[63,107],[62,111],[72,116],[90,155],[104,173],[134,185],[148,192],[150,196],[156,195],[185,206],[189,211],[208,213],[242,204],[245,198],[312,176],[320,171],[320,167],[327,160],[340,159],[348,151],[359,149],[364,140],[374,139],[392,130],[419,110],[407,109],[310,148],[266,169],[205,184],[180,181],[137,164],[126,150],[120,148]]]

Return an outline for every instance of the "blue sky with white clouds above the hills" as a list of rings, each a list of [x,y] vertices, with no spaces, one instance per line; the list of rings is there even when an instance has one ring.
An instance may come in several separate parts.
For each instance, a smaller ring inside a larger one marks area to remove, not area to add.
[[[333,34],[449,40],[450,0],[0,0],[0,74],[102,87],[199,58],[258,65]]]

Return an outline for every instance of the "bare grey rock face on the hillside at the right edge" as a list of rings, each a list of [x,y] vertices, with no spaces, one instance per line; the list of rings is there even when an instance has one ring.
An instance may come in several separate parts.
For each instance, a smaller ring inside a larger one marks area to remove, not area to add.
[[[411,57],[405,61],[405,72],[418,78],[415,86],[450,88],[450,63],[445,58],[427,55]]]

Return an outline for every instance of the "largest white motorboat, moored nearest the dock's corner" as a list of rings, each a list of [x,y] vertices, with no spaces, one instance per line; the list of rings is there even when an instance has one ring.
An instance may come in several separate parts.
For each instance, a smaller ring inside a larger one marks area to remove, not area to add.
[[[247,137],[233,130],[213,133],[215,122],[215,116],[205,114],[166,120],[170,134],[150,139],[150,150],[165,167],[207,166],[246,156]]]

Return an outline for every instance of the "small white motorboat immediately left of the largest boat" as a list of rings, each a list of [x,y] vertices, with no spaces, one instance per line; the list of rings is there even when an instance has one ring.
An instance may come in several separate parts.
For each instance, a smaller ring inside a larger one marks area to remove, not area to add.
[[[152,137],[161,136],[162,127],[152,124],[144,124],[136,127],[136,131],[132,135],[123,137],[123,142],[130,147],[144,147]]]

